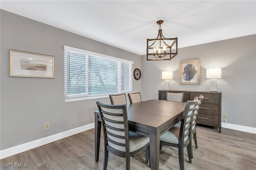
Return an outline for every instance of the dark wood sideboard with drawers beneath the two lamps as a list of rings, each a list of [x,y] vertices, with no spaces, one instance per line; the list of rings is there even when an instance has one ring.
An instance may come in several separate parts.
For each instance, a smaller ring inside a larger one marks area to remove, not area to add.
[[[179,90],[159,90],[158,99],[166,100],[166,92],[180,93],[184,92],[183,101],[194,100],[194,97],[204,96],[201,101],[196,123],[218,127],[221,132],[221,95],[222,92],[212,91],[179,91]]]

